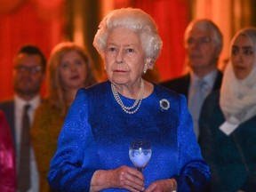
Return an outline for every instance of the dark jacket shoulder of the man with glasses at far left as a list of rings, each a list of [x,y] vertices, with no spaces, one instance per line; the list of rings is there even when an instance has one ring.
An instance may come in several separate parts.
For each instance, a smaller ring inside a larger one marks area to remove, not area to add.
[[[14,100],[5,100],[0,103],[0,109],[4,111],[8,124],[11,127],[12,139],[15,141],[15,118],[14,118]]]

